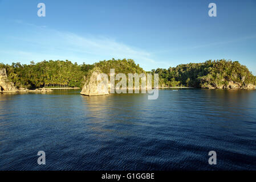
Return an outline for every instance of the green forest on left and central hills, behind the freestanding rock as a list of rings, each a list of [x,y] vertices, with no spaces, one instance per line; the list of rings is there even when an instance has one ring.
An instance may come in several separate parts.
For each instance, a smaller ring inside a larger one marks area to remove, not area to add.
[[[104,60],[95,64],[73,64],[71,61],[42,61],[39,63],[11,65],[1,64],[0,68],[6,68],[7,76],[18,88],[66,88],[83,87],[85,78],[94,67],[109,75],[111,68],[116,73],[142,73],[144,70],[131,59],[123,60]]]

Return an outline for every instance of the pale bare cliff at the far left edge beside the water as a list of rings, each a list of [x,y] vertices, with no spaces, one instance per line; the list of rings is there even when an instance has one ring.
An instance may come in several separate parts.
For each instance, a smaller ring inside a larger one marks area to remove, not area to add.
[[[17,92],[18,89],[7,78],[6,69],[0,69],[0,92]]]

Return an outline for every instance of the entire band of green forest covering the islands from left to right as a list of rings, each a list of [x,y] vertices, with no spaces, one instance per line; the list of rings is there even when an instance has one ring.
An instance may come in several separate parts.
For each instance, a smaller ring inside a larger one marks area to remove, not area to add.
[[[104,60],[94,64],[72,63],[71,61],[42,61],[30,64],[0,63],[0,68],[6,68],[7,76],[15,86],[22,88],[42,87],[80,87],[82,88],[89,71],[99,68],[109,75],[111,68],[115,73],[146,73],[132,59]],[[241,84],[256,85],[256,77],[245,65],[238,61],[208,60],[205,63],[180,64],[169,69],[153,69],[148,73],[159,73],[160,86],[193,86],[207,88],[227,85],[229,81]]]

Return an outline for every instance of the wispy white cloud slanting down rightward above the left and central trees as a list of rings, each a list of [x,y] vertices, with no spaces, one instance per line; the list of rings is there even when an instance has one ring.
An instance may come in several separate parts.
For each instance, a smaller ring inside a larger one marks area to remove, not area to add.
[[[8,39],[14,44],[19,42],[23,46],[19,49],[9,47],[5,53],[15,53],[17,57],[26,57],[35,61],[70,59],[80,63],[85,60],[94,63],[114,57],[115,59],[134,59],[140,65],[155,63],[151,53],[128,46],[115,38],[78,35],[74,32],[54,30],[47,26],[36,26],[22,20],[15,20],[15,23],[19,24],[23,35],[11,34]]]

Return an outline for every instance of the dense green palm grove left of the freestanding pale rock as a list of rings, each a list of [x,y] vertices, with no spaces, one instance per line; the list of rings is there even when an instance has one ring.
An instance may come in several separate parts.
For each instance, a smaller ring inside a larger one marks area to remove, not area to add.
[[[0,64],[5,67],[9,80],[15,86],[25,88],[44,87],[81,87],[83,86],[83,76],[91,69],[88,64],[72,64],[71,61],[42,61],[31,64],[13,63],[11,65]]]

